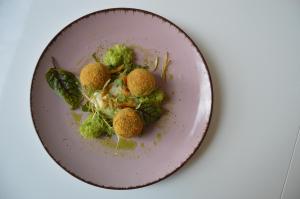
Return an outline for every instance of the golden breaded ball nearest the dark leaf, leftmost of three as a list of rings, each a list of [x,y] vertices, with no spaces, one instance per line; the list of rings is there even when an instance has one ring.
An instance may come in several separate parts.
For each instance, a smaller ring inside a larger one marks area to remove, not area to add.
[[[108,69],[100,63],[87,64],[80,71],[81,85],[93,90],[102,89],[109,78]]]

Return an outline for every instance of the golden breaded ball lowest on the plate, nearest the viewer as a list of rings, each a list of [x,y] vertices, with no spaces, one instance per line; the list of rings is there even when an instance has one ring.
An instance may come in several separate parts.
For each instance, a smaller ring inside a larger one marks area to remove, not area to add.
[[[115,132],[124,138],[140,135],[143,126],[144,124],[140,115],[131,108],[121,109],[113,118]]]

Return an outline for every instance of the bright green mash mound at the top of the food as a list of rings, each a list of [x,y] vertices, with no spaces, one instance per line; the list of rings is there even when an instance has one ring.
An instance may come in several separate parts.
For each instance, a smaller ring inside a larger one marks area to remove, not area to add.
[[[123,44],[116,44],[109,48],[103,57],[103,63],[109,68],[114,68],[121,64],[129,67],[133,64],[133,50]]]

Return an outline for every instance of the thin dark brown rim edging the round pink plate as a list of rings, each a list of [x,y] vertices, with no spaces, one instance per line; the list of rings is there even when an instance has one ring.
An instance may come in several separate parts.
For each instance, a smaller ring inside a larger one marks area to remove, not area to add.
[[[167,173],[166,175],[156,179],[156,180],[153,180],[151,182],[147,182],[145,184],[141,184],[141,185],[136,185],[136,186],[128,186],[128,187],[119,187],[119,186],[106,186],[106,185],[101,185],[101,184],[97,184],[97,183],[94,183],[94,182],[91,182],[89,180],[86,180],[84,179],[83,177],[80,177],[78,176],[77,174],[75,174],[74,172],[68,170],[65,166],[63,166],[59,160],[56,160],[55,157],[50,153],[50,151],[48,150],[46,144],[42,141],[41,137],[40,137],[40,134],[39,134],[39,129],[37,128],[36,124],[35,124],[35,118],[34,118],[34,114],[33,114],[33,104],[32,104],[32,90],[33,90],[33,83],[34,83],[34,80],[35,80],[35,77],[36,77],[36,71],[37,71],[37,68],[39,67],[40,65],[40,62],[41,62],[41,59],[42,57],[44,56],[44,54],[47,52],[47,50],[49,49],[49,47],[55,42],[55,40],[61,35],[63,34],[64,31],[66,31],[68,28],[70,28],[73,24],[81,21],[82,19],[85,19],[85,18],[88,18],[90,16],[93,16],[93,15],[96,15],[96,14],[99,14],[99,13],[106,13],[106,12],[114,12],[114,11],[124,11],[124,12],[128,12],[128,11],[132,11],[132,12],[139,12],[139,13],[142,13],[142,14],[145,14],[145,15],[151,15],[152,17],[157,17],[159,19],[161,19],[162,21],[164,22],[167,22],[169,23],[171,26],[175,27],[178,32],[182,33],[190,42],[191,42],[191,45],[197,50],[197,53],[200,55],[200,57],[202,58],[203,60],[203,63],[204,63],[204,66],[205,66],[205,69],[207,70],[207,73],[208,73],[208,78],[209,78],[209,83],[210,83],[210,91],[211,91],[211,103],[210,103],[210,113],[209,113],[209,118],[208,118],[208,121],[206,122],[206,126],[203,130],[203,136],[202,136],[202,139],[199,140],[197,146],[193,149],[192,153],[188,154],[188,157],[179,165],[177,166],[174,170],[172,170],[171,172]],[[77,18],[76,20],[70,22],[68,25],[64,26],[51,40],[50,42],[46,45],[46,47],[44,48],[43,52],[41,53],[41,55],[39,56],[39,59],[37,61],[37,64],[34,68],[34,72],[33,72],[33,75],[32,75],[32,79],[31,79],[31,86],[30,86],[30,113],[31,113],[31,119],[32,119],[32,123],[33,123],[33,126],[34,126],[34,129],[36,131],[36,134],[40,140],[40,142],[42,143],[44,149],[46,150],[46,152],[48,153],[48,155],[52,158],[52,160],[54,160],[54,162],[56,162],[56,164],[58,164],[63,170],[65,170],[67,173],[69,173],[70,175],[72,175],[73,177],[77,178],[78,180],[81,180],[87,184],[90,184],[90,185],[93,185],[93,186],[96,186],[96,187],[100,187],[100,188],[105,188],[105,189],[113,189],[113,190],[129,190],[129,189],[137,189],[137,188],[142,188],[142,187],[146,187],[146,186],[149,186],[149,185],[152,185],[152,184],[155,184],[157,182],[160,182],[166,178],[168,178],[169,176],[171,176],[172,174],[176,173],[179,169],[181,169],[190,159],[191,157],[196,153],[196,151],[200,148],[200,145],[203,143],[206,135],[207,135],[207,132],[208,132],[208,128],[210,126],[210,123],[211,123],[211,119],[212,119],[212,113],[213,113],[213,101],[214,101],[214,93],[213,93],[213,84],[212,84],[212,78],[211,78],[211,73],[209,71],[209,68],[208,68],[208,65],[207,65],[207,62],[206,60],[204,59],[204,56],[202,54],[202,52],[200,51],[200,49],[198,48],[198,46],[196,45],[196,43],[191,39],[191,37],[186,33],[184,32],[179,26],[177,26],[176,24],[174,24],[172,21],[170,21],[169,19],[159,15],[159,14],[156,14],[156,13],[153,13],[153,12],[150,12],[150,11],[147,11],[147,10],[143,10],[143,9],[138,9],[138,8],[129,8],[129,7],[114,7],[114,8],[107,8],[107,9],[101,9],[101,10],[97,10],[97,11],[94,11],[94,12],[90,12],[88,14],[85,14],[79,18]]]

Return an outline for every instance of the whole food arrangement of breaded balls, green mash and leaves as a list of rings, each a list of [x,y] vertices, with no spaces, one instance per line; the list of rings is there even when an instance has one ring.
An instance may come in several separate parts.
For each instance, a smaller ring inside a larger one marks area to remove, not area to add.
[[[83,66],[79,80],[71,72],[49,68],[49,86],[71,109],[88,114],[79,127],[83,138],[142,136],[144,127],[163,115],[166,94],[148,67],[136,64],[134,57],[133,49],[123,44],[109,48],[102,59],[94,53],[95,62]],[[155,70],[157,65],[158,58]]]

